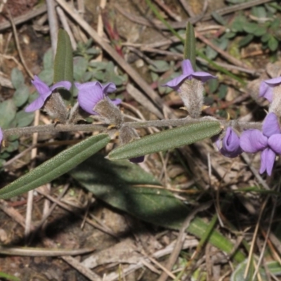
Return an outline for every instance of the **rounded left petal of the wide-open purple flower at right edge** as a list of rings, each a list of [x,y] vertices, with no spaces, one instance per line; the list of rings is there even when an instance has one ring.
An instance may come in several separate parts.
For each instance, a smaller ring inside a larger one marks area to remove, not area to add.
[[[268,138],[259,130],[247,130],[240,136],[240,147],[244,152],[254,153],[266,148]]]

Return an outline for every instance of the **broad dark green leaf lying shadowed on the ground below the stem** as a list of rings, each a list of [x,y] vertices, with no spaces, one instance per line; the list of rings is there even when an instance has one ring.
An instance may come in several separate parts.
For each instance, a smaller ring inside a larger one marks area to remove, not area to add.
[[[190,208],[169,190],[160,188],[159,181],[151,174],[125,160],[111,162],[97,154],[69,174],[100,200],[157,226],[179,230],[190,213]],[[208,224],[196,217],[188,232],[202,237],[207,228]],[[228,254],[233,251],[233,244],[216,230],[208,241]],[[240,251],[233,257],[237,262],[245,259]]]

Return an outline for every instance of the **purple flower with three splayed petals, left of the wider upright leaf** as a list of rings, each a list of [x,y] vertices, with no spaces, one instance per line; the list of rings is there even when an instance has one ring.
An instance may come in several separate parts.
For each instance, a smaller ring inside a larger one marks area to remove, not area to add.
[[[39,110],[45,103],[46,99],[51,96],[51,93],[57,88],[65,88],[70,90],[71,83],[69,81],[60,81],[58,83],[53,84],[53,86],[49,87],[44,81],[39,79],[36,75],[34,76],[34,80],[31,81],[35,86],[39,93],[39,97],[34,100],[30,105],[25,108],[25,112],[32,112],[35,110]]]

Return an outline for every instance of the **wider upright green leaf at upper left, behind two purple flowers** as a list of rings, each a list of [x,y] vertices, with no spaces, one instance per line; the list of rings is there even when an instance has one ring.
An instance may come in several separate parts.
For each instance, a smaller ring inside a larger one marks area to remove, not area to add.
[[[58,30],[58,46],[53,67],[53,83],[70,81],[73,84],[73,56],[70,37],[65,30]],[[70,89],[72,93],[72,89]]]

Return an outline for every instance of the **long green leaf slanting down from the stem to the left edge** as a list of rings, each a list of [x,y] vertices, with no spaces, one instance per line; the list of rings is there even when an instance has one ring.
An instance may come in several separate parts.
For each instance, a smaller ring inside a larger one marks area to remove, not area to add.
[[[0,190],[0,198],[8,199],[53,181],[104,148],[109,141],[107,134],[86,138],[6,185]]]

